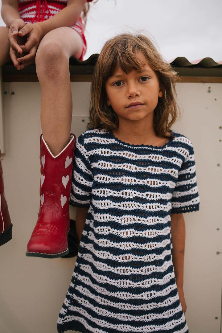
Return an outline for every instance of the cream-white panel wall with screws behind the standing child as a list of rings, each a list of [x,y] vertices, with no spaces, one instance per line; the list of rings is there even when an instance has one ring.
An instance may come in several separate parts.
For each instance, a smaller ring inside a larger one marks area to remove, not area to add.
[[[72,82],[71,86],[72,131],[78,136],[85,130],[82,119],[88,115],[90,83]],[[177,84],[183,117],[173,130],[193,142],[201,201],[200,211],[184,214],[184,294],[189,333],[219,333],[221,325],[222,254],[216,254],[222,252],[221,88],[222,84],[216,83]],[[40,85],[3,83],[3,90],[8,93],[3,97],[6,154],[2,163],[13,238],[0,247],[0,331],[56,333],[76,257],[25,256],[39,211]],[[10,95],[12,91],[14,95]],[[74,207],[70,212],[75,217]]]

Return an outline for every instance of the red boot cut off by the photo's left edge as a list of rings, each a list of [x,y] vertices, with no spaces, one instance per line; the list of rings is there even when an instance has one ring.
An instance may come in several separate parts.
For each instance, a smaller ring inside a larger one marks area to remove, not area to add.
[[[12,239],[12,223],[9,216],[8,205],[5,198],[2,159],[0,150],[0,245]]]

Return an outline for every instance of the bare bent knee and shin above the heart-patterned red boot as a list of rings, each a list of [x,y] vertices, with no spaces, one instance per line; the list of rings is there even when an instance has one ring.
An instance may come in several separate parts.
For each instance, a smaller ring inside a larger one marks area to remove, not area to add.
[[[61,27],[43,37],[36,53],[36,72],[42,94],[42,133],[54,156],[70,140],[72,93],[69,58],[81,56],[82,43],[75,30]]]

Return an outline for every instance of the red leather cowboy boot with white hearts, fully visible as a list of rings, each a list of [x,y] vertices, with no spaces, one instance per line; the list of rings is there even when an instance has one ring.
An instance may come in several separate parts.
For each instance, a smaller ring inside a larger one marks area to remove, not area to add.
[[[38,220],[27,245],[27,256],[58,258],[69,253],[69,198],[76,136],[54,156],[40,137],[40,208]]]

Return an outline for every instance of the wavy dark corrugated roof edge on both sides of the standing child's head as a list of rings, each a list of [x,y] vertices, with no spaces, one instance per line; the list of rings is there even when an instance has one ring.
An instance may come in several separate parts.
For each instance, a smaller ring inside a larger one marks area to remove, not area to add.
[[[99,57],[99,53],[92,54],[86,60],[79,60],[75,57],[71,57],[69,62],[70,65],[88,65],[95,66],[97,59]],[[213,67],[222,67],[222,60],[214,61],[210,57],[188,61],[185,57],[177,57],[175,59],[167,60],[168,64],[171,64],[173,67],[201,67],[201,68],[213,68]]]

